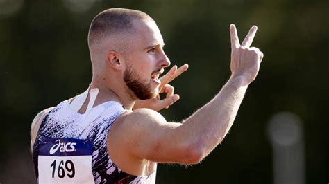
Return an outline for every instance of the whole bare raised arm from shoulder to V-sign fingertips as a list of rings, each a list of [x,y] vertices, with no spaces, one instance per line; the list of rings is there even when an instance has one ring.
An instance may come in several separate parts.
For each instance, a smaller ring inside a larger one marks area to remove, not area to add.
[[[250,48],[256,30],[253,26],[240,46],[236,28],[230,26],[232,75],[208,104],[183,124],[167,122],[150,109],[126,114],[109,133],[109,140],[119,142],[110,143],[120,150],[114,154],[158,163],[199,163],[228,133],[248,85],[258,74],[263,55],[258,48]]]

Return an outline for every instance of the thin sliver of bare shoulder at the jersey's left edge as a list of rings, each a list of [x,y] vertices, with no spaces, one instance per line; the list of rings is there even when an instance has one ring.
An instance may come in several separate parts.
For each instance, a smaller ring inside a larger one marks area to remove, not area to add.
[[[31,136],[31,151],[33,151],[33,145],[35,142],[35,139],[37,138],[37,133],[39,132],[40,125],[42,123],[42,120],[44,120],[44,117],[46,117],[47,113],[51,111],[55,107],[49,107],[48,109],[44,109],[40,113],[35,116],[35,118],[32,121],[31,124],[31,131],[30,131],[30,136]]]

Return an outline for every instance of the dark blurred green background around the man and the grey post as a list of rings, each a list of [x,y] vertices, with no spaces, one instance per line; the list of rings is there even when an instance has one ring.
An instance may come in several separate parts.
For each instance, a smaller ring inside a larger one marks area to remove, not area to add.
[[[172,85],[180,100],[161,111],[183,120],[230,77],[230,35],[264,53],[226,139],[199,165],[159,165],[157,183],[273,183],[267,124],[289,111],[302,121],[305,183],[329,182],[328,0],[0,0],[0,183],[35,183],[30,125],[38,111],[83,92],[91,80],[87,31],[112,7],[149,14],[172,64],[190,68]]]

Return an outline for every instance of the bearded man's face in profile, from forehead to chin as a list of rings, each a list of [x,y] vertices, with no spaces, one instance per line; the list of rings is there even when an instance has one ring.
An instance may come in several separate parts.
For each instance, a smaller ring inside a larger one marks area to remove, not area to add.
[[[135,28],[137,31],[126,50],[124,82],[137,98],[144,100],[158,95],[158,77],[170,61],[154,21],[135,21]]]

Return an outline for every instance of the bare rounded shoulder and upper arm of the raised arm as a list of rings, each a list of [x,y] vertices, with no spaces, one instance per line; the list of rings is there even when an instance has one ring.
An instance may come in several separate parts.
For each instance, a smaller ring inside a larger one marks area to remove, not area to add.
[[[179,126],[180,123],[167,122],[160,113],[151,109],[127,111],[115,120],[108,132],[108,153],[125,172],[135,167],[142,168],[143,160],[172,160],[167,154],[170,153],[168,150],[174,150],[174,144],[168,145],[168,142],[177,142],[174,137]]]

